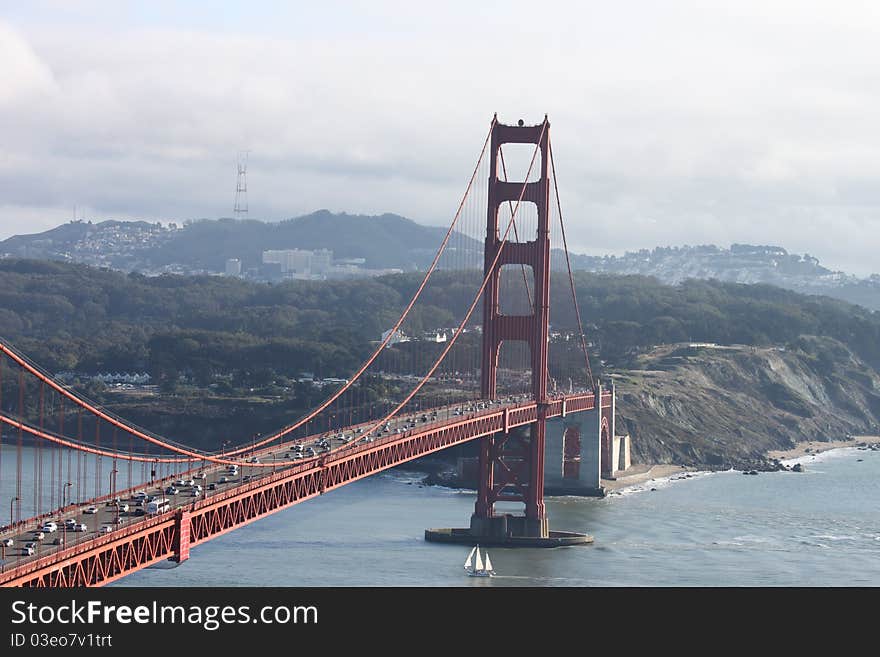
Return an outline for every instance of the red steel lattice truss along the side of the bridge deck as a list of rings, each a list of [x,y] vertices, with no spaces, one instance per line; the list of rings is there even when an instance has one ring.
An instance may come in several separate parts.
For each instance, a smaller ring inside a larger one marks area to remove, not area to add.
[[[603,393],[601,406],[610,408],[610,393]],[[550,418],[593,408],[595,394],[585,393],[551,399],[543,413]],[[273,473],[11,568],[0,573],[0,585],[103,586],[159,561],[185,561],[191,547],[242,525],[426,454],[533,424],[540,412],[534,402],[499,406],[331,453],[324,461]]]

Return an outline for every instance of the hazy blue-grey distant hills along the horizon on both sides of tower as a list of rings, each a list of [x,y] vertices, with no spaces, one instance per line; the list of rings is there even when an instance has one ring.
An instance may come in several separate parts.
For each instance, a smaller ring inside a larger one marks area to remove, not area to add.
[[[361,261],[364,272],[411,271],[430,263],[444,233],[443,228],[395,214],[366,216],[327,210],[278,223],[233,219],[166,225],[79,221],[0,242],[0,257],[82,262],[147,275],[221,273],[227,259],[237,258],[247,274],[259,267],[265,250],[328,249],[337,260]],[[465,243],[475,252],[482,249],[477,240]],[[559,251],[554,252],[553,266],[564,267]],[[858,278],[832,271],[809,254],[791,254],[780,246],[702,245],[643,249],[623,256],[572,254],[572,267],[653,276],[669,284],[687,278],[764,283],[880,310],[880,275]]]

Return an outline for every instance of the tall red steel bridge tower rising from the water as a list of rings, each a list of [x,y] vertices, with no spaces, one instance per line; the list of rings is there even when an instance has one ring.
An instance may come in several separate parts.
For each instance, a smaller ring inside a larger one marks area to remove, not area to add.
[[[494,399],[501,344],[519,340],[529,345],[532,394],[538,403],[537,421],[528,440],[512,440],[511,434],[481,439],[479,490],[471,531],[476,534],[548,536],[544,511],[544,436],[547,410],[547,351],[550,322],[550,124],[547,117],[534,126],[495,123],[489,160],[488,212],[485,265],[488,283],[483,297],[482,393]],[[534,182],[504,182],[498,178],[498,153],[504,144],[535,144],[540,155],[540,176]],[[525,189],[523,190],[523,186]],[[502,242],[498,210],[502,203],[534,203],[538,231],[534,241]],[[498,251],[501,249],[500,257]],[[530,315],[504,315],[499,288],[504,265],[528,265],[534,275],[534,303]],[[495,515],[496,502],[522,502],[524,516]]]

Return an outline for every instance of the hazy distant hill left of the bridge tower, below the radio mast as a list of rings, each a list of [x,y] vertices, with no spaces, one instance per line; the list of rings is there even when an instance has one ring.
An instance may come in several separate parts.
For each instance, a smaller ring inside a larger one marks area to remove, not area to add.
[[[420,269],[431,262],[446,229],[395,214],[333,214],[319,210],[277,223],[235,219],[165,226],[146,222],[71,222],[0,242],[0,255],[81,262],[121,271],[222,272],[228,258],[255,267],[269,249],[330,249],[336,258],[363,258],[371,269]],[[473,248],[482,245],[473,241]]]

